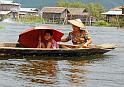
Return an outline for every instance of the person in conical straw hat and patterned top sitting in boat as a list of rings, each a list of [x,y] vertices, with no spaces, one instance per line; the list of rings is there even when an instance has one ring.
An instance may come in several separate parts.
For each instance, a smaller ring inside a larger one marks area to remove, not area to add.
[[[74,45],[79,45],[79,47],[85,48],[92,43],[92,38],[86,30],[84,24],[80,19],[68,20],[72,24],[73,30],[69,32],[66,38],[62,38],[61,42],[67,42],[72,40]]]

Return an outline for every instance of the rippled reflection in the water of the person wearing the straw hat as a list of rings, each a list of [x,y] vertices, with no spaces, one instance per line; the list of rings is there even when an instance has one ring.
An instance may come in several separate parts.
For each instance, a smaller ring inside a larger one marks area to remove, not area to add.
[[[86,76],[85,74],[88,73],[85,66],[87,65],[88,60],[80,60],[80,61],[68,61],[70,66],[69,69],[65,69],[69,74],[67,77],[71,83],[85,83]]]

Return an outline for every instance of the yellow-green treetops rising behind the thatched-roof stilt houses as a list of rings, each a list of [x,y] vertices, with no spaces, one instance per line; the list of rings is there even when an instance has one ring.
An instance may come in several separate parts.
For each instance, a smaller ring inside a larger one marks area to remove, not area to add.
[[[76,7],[86,8],[90,13],[90,16],[95,17],[98,20],[103,19],[102,12],[105,12],[105,8],[100,3],[82,3],[82,2],[65,2],[64,0],[58,0],[56,6],[59,7]]]

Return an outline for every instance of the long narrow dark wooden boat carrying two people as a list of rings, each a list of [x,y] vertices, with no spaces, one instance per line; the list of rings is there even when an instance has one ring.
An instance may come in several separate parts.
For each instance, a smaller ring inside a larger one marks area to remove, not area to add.
[[[69,46],[69,45],[68,45]],[[89,48],[46,49],[23,48],[18,43],[1,43],[0,55],[36,55],[42,57],[81,57],[104,54],[116,48],[114,44],[92,45]]]

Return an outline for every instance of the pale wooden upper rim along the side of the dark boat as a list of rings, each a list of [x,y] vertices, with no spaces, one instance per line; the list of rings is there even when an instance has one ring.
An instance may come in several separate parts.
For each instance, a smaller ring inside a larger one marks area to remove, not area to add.
[[[6,46],[6,44],[9,44]],[[102,46],[97,46],[97,45],[93,45],[89,48],[56,48],[56,49],[53,49],[53,48],[25,48],[25,47],[21,47],[19,43],[0,43],[0,50],[2,49],[5,49],[5,50],[44,50],[44,51],[52,51],[52,50],[67,50],[67,51],[73,51],[73,50],[91,50],[91,49],[101,49],[101,50],[112,50],[112,49],[115,49],[117,46],[116,45],[113,45],[113,47],[110,47],[110,48],[104,48]],[[73,46],[73,45],[72,45]]]

